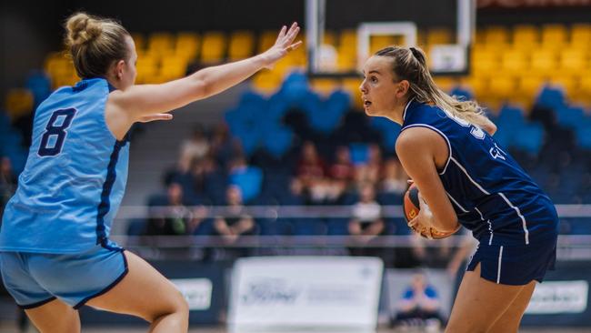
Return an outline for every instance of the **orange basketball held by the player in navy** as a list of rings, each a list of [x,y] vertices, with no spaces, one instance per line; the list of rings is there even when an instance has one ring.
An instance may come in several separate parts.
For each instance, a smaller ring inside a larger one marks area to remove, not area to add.
[[[456,231],[459,230],[461,227],[458,224],[456,230],[452,232],[442,232],[437,230],[435,227],[428,227],[422,225],[419,221],[419,218],[416,217],[418,217],[421,208],[428,209],[428,207],[426,206],[426,203],[423,200],[423,198],[418,195],[418,187],[416,187],[414,183],[411,184],[410,187],[408,187],[408,189],[406,190],[405,198],[403,201],[403,207],[405,209],[406,224],[408,224],[408,227],[410,227],[421,237],[426,237],[429,239],[440,239],[450,237],[454,235]]]

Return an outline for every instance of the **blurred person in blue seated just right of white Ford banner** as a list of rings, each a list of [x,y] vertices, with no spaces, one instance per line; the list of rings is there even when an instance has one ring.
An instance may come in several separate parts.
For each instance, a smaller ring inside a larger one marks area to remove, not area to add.
[[[394,325],[400,328],[425,328],[426,332],[439,332],[444,324],[437,291],[426,282],[423,273],[416,273],[411,285],[404,291],[398,304]]]

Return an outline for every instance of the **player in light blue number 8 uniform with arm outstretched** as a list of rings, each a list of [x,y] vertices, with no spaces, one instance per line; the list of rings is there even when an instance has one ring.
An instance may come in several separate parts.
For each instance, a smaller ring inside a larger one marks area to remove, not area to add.
[[[186,332],[188,308],[175,286],[109,241],[124,195],[128,130],[235,86],[289,51],[299,27],[283,27],[260,55],[205,68],[161,85],[134,86],[131,36],[113,20],[78,13],[66,42],[78,76],[35,112],[32,145],[0,230],[5,287],[41,332],[79,332],[87,304],[134,315],[151,332]]]

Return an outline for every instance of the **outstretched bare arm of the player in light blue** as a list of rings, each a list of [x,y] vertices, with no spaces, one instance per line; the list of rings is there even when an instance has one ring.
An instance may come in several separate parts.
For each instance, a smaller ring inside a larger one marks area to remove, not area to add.
[[[110,107],[120,109],[135,122],[145,116],[169,112],[196,100],[219,94],[263,68],[273,68],[279,59],[302,44],[301,41],[294,44],[299,30],[296,23],[289,29],[284,26],[277,36],[275,45],[264,53],[245,60],[207,67],[191,76],[161,85],[138,85],[131,86],[125,91],[115,91],[109,96]]]

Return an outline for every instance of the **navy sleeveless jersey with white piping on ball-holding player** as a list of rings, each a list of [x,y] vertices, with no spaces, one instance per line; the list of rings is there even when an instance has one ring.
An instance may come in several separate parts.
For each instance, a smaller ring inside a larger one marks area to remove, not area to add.
[[[439,177],[459,222],[474,237],[491,245],[528,245],[556,237],[558,217],[550,198],[482,128],[411,100],[402,131],[415,126],[446,140],[449,157]]]

